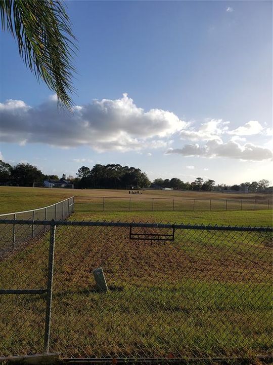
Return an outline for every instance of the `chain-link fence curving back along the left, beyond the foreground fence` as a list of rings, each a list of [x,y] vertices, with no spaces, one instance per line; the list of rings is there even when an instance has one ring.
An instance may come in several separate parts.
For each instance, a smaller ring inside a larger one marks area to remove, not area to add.
[[[68,218],[74,211],[74,197],[70,197],[56,204],[47,207],[25,210],[15,213],[0,214],[0,220],[25,220],[31,221],[32,224],[22,226],[21,224],[7,225],[2,227],[0,242],[0,258],[5,250],[15,249],[16,245],[49,231],[49,225],[34,225],[34,221],[63,221]]]

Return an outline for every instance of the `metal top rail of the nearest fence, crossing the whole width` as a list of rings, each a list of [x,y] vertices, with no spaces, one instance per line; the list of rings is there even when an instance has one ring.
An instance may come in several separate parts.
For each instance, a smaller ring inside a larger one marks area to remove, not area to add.
[[[243,231],[243,232],[272,232],[273,227],[238,227],[238,226],[210,226],[191,224],[169,223],[129,223],[129,222],[89,222],[89,221],[39,221],[39,220],[5,220],[0,219],[0,224],[37,225],[37,226],[83,226],[83,227],[141,227],[141,228],[169,228],[193,229],[211,231]]]

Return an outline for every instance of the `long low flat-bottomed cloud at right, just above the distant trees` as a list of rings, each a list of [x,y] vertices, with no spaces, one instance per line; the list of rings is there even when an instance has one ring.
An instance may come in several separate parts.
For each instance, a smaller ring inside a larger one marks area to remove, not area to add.
[[[200,157],[225,157],[232,159],[262,161],[272,158],[269,149],[245,143],[240,145],[236,141],[219,142],[217,140],[208,141],[204,147],[199,144],[186,144],[181,149],[168,149],[166,154],[180,154],[183,156]]]

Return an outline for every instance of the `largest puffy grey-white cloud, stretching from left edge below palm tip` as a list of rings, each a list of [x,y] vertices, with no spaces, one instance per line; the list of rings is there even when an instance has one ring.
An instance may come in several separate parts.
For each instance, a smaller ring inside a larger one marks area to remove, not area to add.
[[[0,103],[0,140],[62,148],[89,145],[99,152],[124,152],[166,147],[171,143],[168,138],[187,126],[172,112],[144,111],[127,94],[75,106],[72,114],[58,113],[56,102],[53,96],[37,107],[21,100]]]

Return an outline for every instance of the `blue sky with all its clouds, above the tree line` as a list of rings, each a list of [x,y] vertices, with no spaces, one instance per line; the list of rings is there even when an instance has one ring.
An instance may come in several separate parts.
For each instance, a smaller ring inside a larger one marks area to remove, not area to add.
[[[73,115],[1,33],[3,159],[44,173],[120,163],[150,179],[272,180],[272,3],[66,2]]]

